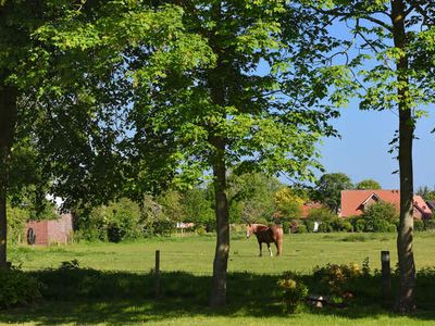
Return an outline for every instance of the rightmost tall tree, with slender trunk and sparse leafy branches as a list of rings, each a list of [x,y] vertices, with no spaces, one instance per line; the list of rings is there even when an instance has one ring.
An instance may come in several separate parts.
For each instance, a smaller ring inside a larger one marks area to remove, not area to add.
[[[331,22],[349,30],[343,51],[336,53],[345,59],[339,66],[344,75],[355,76],[346,92],[356,90],[363,110],[394,110],[399,117],[391,141],[398,148],[400,174],[396,310],[407,313],[414,309],[415,287],[412,145],[415,123],[424,114],[419,105],[435,102],[435,5],[420,0],[314,2]],[[343,91],[339,85],[337,89]]]

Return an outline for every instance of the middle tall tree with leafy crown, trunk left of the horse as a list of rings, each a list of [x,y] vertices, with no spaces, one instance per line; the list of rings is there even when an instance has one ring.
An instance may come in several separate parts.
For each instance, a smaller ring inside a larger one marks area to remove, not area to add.
[[[147,53],[135,55],[135,148],[156,134],[159,145],[171,143],[178,184],[211,172],[217,237],[210,304],[220,306],[226,303],[229,253],[227,172],[312,177],[310,166],[319,166],[314,145],[332,133],[325,121],[335,116],[321,108],[327,85],[314,72],[319,57],[312,49],[324,49],[320,39],[326,36],[316,16],[294,2],[160,2],[183,9],[187,30],[211,51],[210,64],[150,78],[140,73]]]

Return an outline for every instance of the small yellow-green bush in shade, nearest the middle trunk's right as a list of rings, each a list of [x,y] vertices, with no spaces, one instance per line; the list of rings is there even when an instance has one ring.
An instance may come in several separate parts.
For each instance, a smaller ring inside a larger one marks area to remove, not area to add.
[[[284,278],[277,281],[283,290],[284,312],[296,313],[308,296],[308,287],[291,272],[284,273]]]

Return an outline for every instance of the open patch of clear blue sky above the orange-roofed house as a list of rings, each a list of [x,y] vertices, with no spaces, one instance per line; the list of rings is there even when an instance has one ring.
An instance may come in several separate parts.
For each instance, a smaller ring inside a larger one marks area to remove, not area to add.
[[[435,186],[435,134],[431,134],[435,128],[435,111],[427,110],[430,116],[420,120],[415,130],[420,138],[415,139],[413,149],[415,191],[420,186]],[[398,189],[399,175],[391,174],[398,170],[396,153],[388,153],[398,116],[389,111],[360,111],[355,103],[340,112],[341,117],[333,125],[341,139],[328,138],[321,147],[321,162],[326,172],[343,172],[353,183],[373,178],[384,189]]]

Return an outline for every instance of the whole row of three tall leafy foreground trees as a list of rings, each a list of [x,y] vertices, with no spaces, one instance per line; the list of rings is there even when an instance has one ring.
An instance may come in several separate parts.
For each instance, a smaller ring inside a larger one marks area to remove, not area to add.
[[[397,310],[413,308],[412,141],[434,102],[431,1],[0,2],[0,266],[13,156],[66,205],[141,200],[211,173],[210,303],[226,302],[227,171],[312,178],[315,143],[350,98],[397,110]],[[332,28],[348,33],[336,37]],[[341,60],[343,59],[343,60]],[[30,184],[32,184],[30,183]]]

